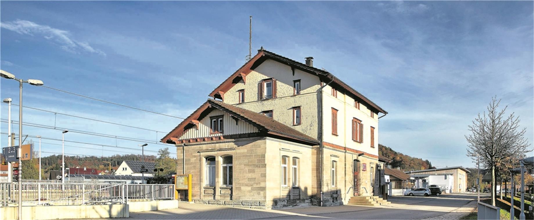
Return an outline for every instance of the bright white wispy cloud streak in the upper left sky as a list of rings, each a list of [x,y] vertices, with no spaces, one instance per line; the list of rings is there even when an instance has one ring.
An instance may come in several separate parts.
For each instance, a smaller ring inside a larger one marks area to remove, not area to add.
[[[60,30],[46,25],[39,25],[32,21],[15,20],[0,22],[0,26],[7,30],[15,31],[22,35],[42,36],[60,44],[61,49],[70,53],[89,52],[105,56],[106,53],[93,48],[87,42],[75,40],[67,30]]]

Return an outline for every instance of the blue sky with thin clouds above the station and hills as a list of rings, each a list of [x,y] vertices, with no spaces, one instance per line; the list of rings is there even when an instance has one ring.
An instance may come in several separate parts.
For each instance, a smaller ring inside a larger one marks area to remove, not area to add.
[[[186,117],[245,62],[253,15],[253,53],[264,46],[295,60],[313,56],[314,66],[390,113],[380,120],[381,144],[437,167],[473,167],[464,135],[492,96],[520,116],[533,140],[532,9],[532,2],[474,1],[2,2],[1,66],[54,88]],[[18,103],[18,84],[0,85],[2,99]],[[24,104],[163,132],[180,122],[29,85]],[[53,125],[54,114],[25,109],[23,121]],[[162,133],[59,115],[55,123],[164,147],[155,144]],[[61,138],[52,129],[25,126],[23,133]],[[66,140],[138,144],[76,133]],[[50,143],[43,151],[61,151],[52,145],[60,142],[43,142]]]

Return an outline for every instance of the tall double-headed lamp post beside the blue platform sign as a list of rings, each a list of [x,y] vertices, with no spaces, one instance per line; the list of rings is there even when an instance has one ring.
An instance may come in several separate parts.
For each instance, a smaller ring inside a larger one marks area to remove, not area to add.
[[[15,78],[15,75],[11,74],[10,72],[7,72],[5,70],[0,70],[0,76],[6,79],[14,79],[19,82],[19,215],[18,218],[22,219],[22,158],[20,157],[21,147],[22,147],[22,84],[27,83],[33,86],[42,86],[43,81],[38,79],[18,79]]]

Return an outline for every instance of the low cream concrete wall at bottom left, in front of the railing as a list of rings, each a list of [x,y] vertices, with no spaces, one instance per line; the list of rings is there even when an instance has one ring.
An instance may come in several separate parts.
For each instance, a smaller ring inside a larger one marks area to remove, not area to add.
[[[127,218],[129,205],[23,206],[22,219]],[[2,220],[18,219],[18,207],[2,207]]]

